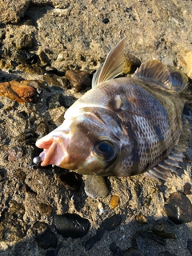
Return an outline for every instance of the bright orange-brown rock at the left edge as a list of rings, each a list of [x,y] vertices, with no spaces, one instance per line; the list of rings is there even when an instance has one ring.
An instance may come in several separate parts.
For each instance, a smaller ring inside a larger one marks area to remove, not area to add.
[[[16,80],[0,83],[0,96],[8,97],[19,103],[34,102],[38,92],[34,88],[34,83],[38,87],[38,81]]]

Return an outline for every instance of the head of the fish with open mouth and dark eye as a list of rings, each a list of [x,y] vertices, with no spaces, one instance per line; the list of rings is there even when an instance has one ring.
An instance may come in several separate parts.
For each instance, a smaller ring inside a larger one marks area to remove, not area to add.
[[[61,126],[36,142],[44,149],[41,166],[56,165],[79,174],[115,175],[122,130],[114,113],[100,107],[84,107],[69,116],[66,114]]]

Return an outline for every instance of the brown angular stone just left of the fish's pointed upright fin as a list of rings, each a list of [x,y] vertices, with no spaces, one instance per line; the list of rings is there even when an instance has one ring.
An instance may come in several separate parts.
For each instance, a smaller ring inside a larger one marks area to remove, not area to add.
[[[91,85],[90,74],[80,70],[67,70],[66,78],[76,92],[86,89]]]

